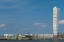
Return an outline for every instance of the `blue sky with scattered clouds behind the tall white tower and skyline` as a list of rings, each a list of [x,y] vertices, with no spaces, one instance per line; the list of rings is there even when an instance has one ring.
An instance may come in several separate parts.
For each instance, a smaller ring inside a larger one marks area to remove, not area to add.
[[[0,0],[0,35],[53,33],[53,7],[60,8],[58,32],[64,33],[64,0]]]

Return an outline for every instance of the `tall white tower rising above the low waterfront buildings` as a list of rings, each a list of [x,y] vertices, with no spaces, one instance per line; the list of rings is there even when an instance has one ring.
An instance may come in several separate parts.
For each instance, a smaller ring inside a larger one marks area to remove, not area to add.
[[[53,34],[57,36],[58,34],[58,16],[59,16],[59,8],[53,8]]]

